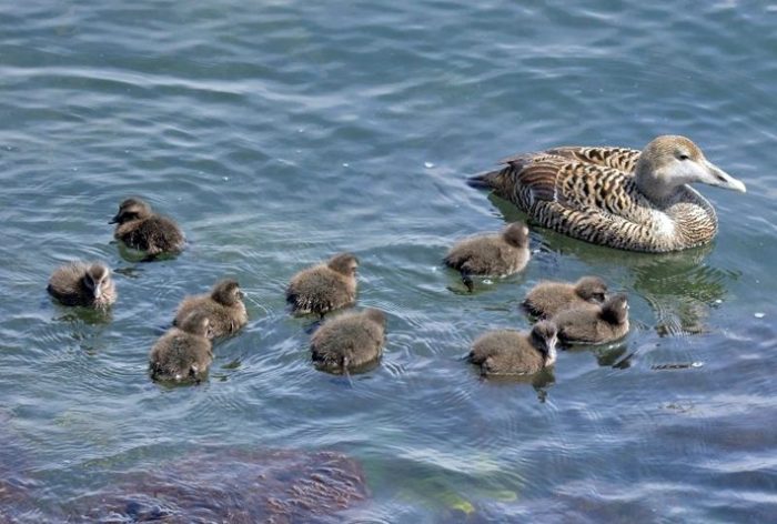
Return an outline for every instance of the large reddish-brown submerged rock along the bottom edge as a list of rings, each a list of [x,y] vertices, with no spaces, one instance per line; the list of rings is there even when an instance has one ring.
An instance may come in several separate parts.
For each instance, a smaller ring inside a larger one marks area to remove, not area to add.
[[[359,463],[340,453],[206,449],[119,474],[68,513],[90,522],[336,522],[366,497]]]

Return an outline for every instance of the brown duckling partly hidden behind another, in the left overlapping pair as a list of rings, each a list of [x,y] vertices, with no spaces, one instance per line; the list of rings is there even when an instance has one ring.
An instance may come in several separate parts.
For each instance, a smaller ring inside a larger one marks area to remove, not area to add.
[[[249,322],[243,296],[236,280],[216,282],[210,293],[186,296],[178,306],[173,325],[180,325],[193,311],[201,311],[210,320],[213,336],[234,333]]]

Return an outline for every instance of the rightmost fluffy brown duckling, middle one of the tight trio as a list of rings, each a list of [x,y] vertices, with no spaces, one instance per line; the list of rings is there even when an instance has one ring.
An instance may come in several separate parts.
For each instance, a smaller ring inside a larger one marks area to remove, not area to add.
[[[564,343],[603,344],[628,333],[628,299],[618,293],[604,304],[585,304],[553,316]]]

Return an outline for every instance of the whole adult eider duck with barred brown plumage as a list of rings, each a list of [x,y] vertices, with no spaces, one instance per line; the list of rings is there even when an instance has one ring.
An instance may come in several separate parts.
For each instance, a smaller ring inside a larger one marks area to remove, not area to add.
[[[694,182],[745,192],[685,137],[658,137],[640,151],[564,147],[503,161],[470,179],[509,200],[539,225],[601,245],[660,253],[708,243],[710,203]]]

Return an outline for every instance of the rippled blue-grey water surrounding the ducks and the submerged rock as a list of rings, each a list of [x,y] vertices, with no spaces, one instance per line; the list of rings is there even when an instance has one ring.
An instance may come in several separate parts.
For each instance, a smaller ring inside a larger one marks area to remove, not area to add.
[[[37,508],[8,518],[64,518],[203,446],[353,457],[370,497],[336,521],[777,514],[777,4],[4,2],[0,93],[0,442]],[[720,222],[707,248],[533,229],[526,271],[472,295],[441,266],[454,240],[522,218],[468,174],[666,133],[747,184],[699,188]],[[123,256],[107,222],[128,195],[180,221],[183,254]],[[313,319],[283,296],[342,250],[359,305],[389,314],[382,364],[350,381],[311,365]],[[72,259],[114,269],[109,319],[46,294]],[[629,294],[623,343],[563,352],[536,387],[462,361],[483,331],[529,325],[533,283],[583,274]],[[203,384],[151,382],[178,302],[223,275],[249,325]]]

